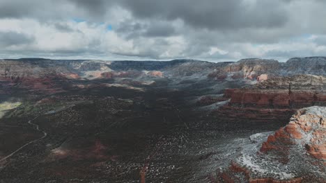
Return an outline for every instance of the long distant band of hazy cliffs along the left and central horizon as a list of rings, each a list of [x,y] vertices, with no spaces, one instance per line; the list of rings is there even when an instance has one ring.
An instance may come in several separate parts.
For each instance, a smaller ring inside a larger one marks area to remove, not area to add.
[[[0,87],[9,93],[10,89],[16,88],[50,94],[68,89],[102,87],[101,83],[107,87],[132,88],[151,85],[160,78],[183,80],[183,77],[190,76],[206,79],[209,71],[219,65],[198,60],[0,60]]]

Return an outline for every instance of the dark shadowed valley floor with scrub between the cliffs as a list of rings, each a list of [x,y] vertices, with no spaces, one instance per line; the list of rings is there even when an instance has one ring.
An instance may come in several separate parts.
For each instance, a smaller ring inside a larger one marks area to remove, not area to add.
[[[0,119],[0,182],[215,182],[252,134],[286,122],[225,121],[192,97],[164,83],[10,96],[23,102]]]

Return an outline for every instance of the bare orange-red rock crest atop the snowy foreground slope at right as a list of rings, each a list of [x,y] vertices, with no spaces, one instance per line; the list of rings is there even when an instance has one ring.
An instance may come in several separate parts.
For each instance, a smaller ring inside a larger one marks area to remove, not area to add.
[[[268,137],[261,151],[277,150],[284,153],[292,146],[304,148],[317,159],[326,159],[326,107],[298,110],[286,127]]]

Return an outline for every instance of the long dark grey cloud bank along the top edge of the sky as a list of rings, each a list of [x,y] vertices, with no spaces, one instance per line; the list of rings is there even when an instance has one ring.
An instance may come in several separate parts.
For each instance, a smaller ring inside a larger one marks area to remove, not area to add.
[[[284,3],[292,1],[295,0],[0,0],[0,17],[58,18],[81,15],[85,10],[86,18],[103,21],[110,8],[120,6],[139,19],[181,19],[194,28],[274,28],[286,24],[288,12]],[[65,9],[71,6],[79,12]]]

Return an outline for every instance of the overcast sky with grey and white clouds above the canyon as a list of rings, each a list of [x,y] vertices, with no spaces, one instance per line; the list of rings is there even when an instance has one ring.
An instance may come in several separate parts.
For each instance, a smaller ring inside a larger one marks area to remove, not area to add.
[[[326,55],[324,0],[0,0],[0,58]]]

